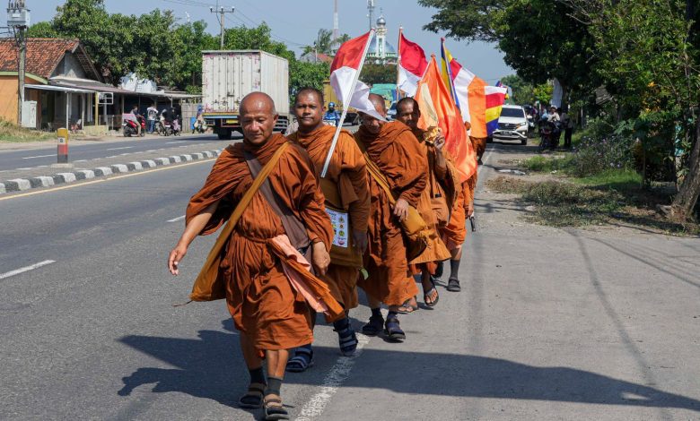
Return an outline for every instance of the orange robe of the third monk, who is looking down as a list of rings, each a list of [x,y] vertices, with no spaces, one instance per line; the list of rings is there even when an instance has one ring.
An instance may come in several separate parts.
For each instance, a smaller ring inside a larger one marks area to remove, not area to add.
[[[355,133],[367,155],[377,164],[398,198],[416,206],[427,184],[427,161],[411,130],[399,122],[381,126],[379,134],[364,127]],[[364,259],[367,279],[359,279],[360,288],[386,305],[403,305],[416,296],[418,288],[408,270],[407,247],[401,226],[393,214],[389,197],[372,176],[370,184],[369,246]]]

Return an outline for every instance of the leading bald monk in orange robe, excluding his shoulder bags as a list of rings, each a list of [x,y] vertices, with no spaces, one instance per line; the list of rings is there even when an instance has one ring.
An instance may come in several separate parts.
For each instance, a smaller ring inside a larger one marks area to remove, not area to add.
[[[189,201],[187,223],[178,244],[171,251],[168,266],[179,273],[179,262],[197,235],[207,235],[229,219],[232,210],[253,183],[247,155],[267,164],[285,142],[274,134],[277,114],[273,100],[262,92],[241,101],[244,140],[228,146]],[[320,274],[328,268],[333,230],[324,209],[313,164],[302,148],[290,145],[267,177],[279,203],[284,204],[308,236],[311,261]],[[280,205],[281,207],[281,205]],[[253,196],[229,237],[219,266],[218,279],[225,283],[225,298],[236,329],[241,332],[241,349],[249,369],[249,391],[241,397],[243,408],[265,408],[265,419],[288,417],[280,398],[280,387],[288,350],[313,339],[310,313],[302,292],[293,288],[274,251],[273,239],[289,235],[283,219],[260,190]],[[267,361],[267,379],[262,357]]]

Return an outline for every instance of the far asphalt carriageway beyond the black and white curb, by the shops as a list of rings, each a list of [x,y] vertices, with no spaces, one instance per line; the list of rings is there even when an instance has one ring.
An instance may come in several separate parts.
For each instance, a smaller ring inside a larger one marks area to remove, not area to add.
[[[234,133],[234,136],[237,133]],[[216,135],[187,135],[144,137],[132,142],[95,142],[69,146],[68,156],[71,162],[81,159],[108,158],[122,153],[137,153],[145,150],[170,148],[186,143],[220,142]],[[222,142],[222,144],[224,144]],[[18,168],[31,168],[56,163],[56,144],[31,150],[0,150],[0,171]]]

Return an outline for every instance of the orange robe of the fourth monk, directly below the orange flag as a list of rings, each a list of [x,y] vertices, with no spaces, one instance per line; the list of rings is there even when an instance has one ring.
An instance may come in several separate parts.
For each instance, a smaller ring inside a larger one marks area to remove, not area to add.
[[[413,133],[420,144],[422,156],[428,164],[426,168],[428,185],[421,193],[417,209],[428,227],[433,228],[433,235],[430,237],[425,251],[409,262],[409,264],[411,272],[414,274],[428,271],[433,275],[437,269],[437,262],[449,259],[451,254],[438,234],[440,222],[433,212],[432,196],[433,194],[442,196],[448,202],[447,190],[450,190],[449,195],[453,195],[454,188],[453,186],[448,189],[445,188],[447,186],[444,183],[445,178],[449,175],[448,168],[446,166],[441,168],[437,165],[437,151],[432,144],[424,141],[424,132],[418,129]]]

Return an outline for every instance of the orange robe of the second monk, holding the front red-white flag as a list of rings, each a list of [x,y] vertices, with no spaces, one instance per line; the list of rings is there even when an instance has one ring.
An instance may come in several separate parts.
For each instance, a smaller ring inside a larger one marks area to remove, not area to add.
[[[309,152],[311,161],[320,175],[335,132],[335,127],[324,125],[312,133],[296,132],[287,138],[299,143]],[[354,142],[353,135],[345,130],[341,131],[328,165],[326,178],[337,185],[343,208],[347,210],[352,228],[361,232],[367,231],[367,220],[370,216],[370,190],[367,176],[363,153]],[[352,233],[349,233],[349,236],[352,237]],[[331,261],[326,276],[320,277],[327,282],[331,294],[346,310],[358,305],[359,272],[357,268],[334,264]]]

